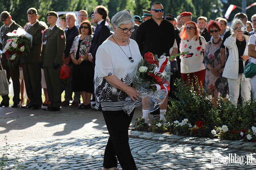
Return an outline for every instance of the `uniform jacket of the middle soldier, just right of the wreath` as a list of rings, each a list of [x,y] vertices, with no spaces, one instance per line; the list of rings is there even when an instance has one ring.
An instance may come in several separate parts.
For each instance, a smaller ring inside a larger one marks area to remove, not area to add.
[[[39,63],[42,51],[42,35],[46,27],[36,22],[33,26],[26,25],[25,31],[33,36],[32,48],[28,56],[20,59],[21,63]]]

